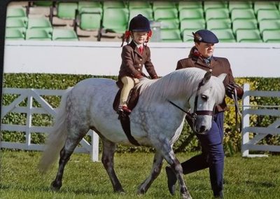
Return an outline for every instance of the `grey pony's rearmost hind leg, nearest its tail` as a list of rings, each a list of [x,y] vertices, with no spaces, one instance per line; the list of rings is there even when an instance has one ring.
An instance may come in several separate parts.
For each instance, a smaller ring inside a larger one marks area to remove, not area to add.
[[[60,151],[59,167],[57,170],[57,176],[55,177],[55,180],[52,181],[52,184],[50,185],[50,188],[52,189],[52,191],[59,191],[60,187],[62,186],[62,177],[63,177],[64,167],[65,167],[66,163],[68,162],[68,160],[70,159],[70,156],[72,155],[74,149],[76,148],[76,146],[78,145],[80,140],[85,136],[85,134],[88,131],[88,129],[79,130],[78,132],[80,132],[80,134],[74,135],[74,131],[73,131],[74,129],[75,128],[70,130],[69,135],[71,135],[71,137],[68,136],[66,138],[65,145],[62,148],[62,150]]]

